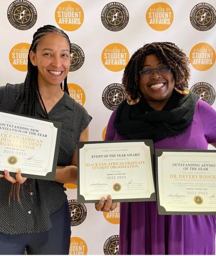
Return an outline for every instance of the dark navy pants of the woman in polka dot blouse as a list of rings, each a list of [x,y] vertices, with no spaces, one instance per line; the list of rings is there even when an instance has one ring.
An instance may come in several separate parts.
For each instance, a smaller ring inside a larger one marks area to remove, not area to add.
[[[8,235],[0,233],[0,255],[68,255],[71,236],[71,217],[66,202],[51,215],[53,227],[39,233]]]

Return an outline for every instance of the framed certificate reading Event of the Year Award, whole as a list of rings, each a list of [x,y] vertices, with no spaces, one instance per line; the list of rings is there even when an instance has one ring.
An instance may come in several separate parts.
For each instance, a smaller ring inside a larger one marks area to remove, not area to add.
[[[79,142],[78,202],[155,201],[153,141]]]

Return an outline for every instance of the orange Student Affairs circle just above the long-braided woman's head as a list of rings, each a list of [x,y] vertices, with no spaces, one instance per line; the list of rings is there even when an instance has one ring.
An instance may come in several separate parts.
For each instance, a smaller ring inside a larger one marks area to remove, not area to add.
[[[55,9],[55,21],[62,30],[78,30],[84,20],[81,6],[72,1],[61,2]]]

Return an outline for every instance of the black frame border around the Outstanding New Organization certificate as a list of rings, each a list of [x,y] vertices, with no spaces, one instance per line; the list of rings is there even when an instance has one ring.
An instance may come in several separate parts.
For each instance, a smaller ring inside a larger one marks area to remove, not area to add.
[[[57,160],[58,160],[58,152],[59,152],[59,144],[60,144],[62,123],[52,121],[52,120],[48,120],[48,119],[44,119],[44,118],[36,118],[36,117],[27,116],[27,115],[18,114],[18,113],[10,113],[10,112],[3,111],[3,110],[0,110],[0,113],[1,112],[9,114],[9,115],[15,115],[15,116],[20,116],[20,117],[24,117],[24,118],[27,117],[27,118],[30,118],[30,119],[33,119],[33,120],[41,120],[41,121],[44,121],[44,122],[52,123],[53,126],[55,128],[57,128],[57,133],[56,133],[56,138],[55,138],[55,149],[54,149],[54,160],[53,160],[52,171],[48,172],[46,176],[22,173],[22,177],[26,177],[26,178],[55,181],[55,172],[56,172],[56,166],[57,166]],[[4,172],[0,171],[0,174],[4,175]],[[10,172],[10,176],[15,177],[16,172]]]

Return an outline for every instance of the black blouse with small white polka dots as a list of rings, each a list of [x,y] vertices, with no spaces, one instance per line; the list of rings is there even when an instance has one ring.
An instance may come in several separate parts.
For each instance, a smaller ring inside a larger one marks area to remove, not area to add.
[[[0,87],[0,110],[11,111],[23,84]],[[62,123],[57,165],[70,165],[81,132],[88,126],[91,116],[67,93],[48,114],[49,119]],[[44,118],[36,105],[36,117]],[[67,200],[63,184],[55,181],[27,179],[20,189],[20,201],[11,199],[11,183],[0,178],[0,232],[22,234],[46,231],[52,227],[50,215]]]

